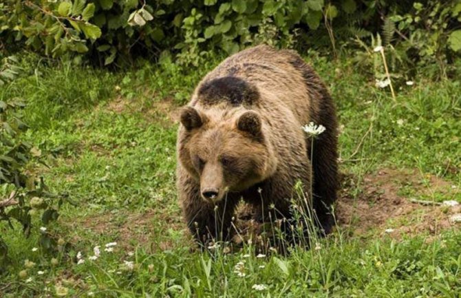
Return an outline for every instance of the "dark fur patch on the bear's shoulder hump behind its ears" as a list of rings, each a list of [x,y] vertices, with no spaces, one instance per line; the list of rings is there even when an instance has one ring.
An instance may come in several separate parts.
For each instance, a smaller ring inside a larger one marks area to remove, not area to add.
[[[208,81],[198,90],[198,100],[206,105],[226,101],[237,107],[255,105],[259,99],[257,88],[235,76],[224,76]]]

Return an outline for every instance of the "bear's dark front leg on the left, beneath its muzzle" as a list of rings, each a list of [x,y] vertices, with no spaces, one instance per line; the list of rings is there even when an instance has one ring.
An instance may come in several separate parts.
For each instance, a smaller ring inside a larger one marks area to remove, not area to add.
[[[217,204],[204,202],[198,196],[183,200],[182,211],[195,239],[201,244],[230,240],[236,202],[226,197]]]

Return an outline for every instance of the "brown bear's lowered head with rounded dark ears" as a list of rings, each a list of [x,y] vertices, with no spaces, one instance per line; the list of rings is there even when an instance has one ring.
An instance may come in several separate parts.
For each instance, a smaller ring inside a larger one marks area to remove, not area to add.
[[[208,202],[240,192],[275,172],[277,158],[256,111],[185,107],[178,158]]]

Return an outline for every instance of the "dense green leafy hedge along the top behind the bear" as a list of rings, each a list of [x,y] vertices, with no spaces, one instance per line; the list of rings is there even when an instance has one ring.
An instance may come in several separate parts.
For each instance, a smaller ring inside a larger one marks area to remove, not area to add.
[[[162,53],[197,65],[208,50],[230,54],[261,42],[328,45],[336,54],[380,32],[385,43],[401,41],[400,60],[451,63],[461,50],[460,0],[6,0],[0,11],[0,49],[25,43],[49,56],[85,53],[100,65]]]

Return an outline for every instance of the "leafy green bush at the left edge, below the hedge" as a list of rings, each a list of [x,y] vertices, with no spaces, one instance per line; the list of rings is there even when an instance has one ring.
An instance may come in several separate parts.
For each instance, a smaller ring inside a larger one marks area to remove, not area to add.
[[[58,217],[52,195],[43,179],[28,169],[31,162],[39,161],[41,151],[22,138],[28,129],[21,117],[23,100],[14,98],[7,103],[0,100],[0,221],[21,224],[26,236],[30,235],[32,217],[41,215],[41,224],[46,226]],[[58,198],[58,205],[63,198]],[[43,231],[39,244],[44,251],[52,251],[56,242]],[[0,271],[8,262],[8,246],[0,237]]]

